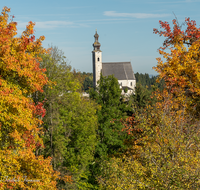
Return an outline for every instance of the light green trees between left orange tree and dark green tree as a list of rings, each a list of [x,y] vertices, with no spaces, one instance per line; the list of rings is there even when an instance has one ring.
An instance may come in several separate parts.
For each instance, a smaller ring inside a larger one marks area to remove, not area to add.
[[[88,164],[94,157],[96,105],[81,97],[81,84],[62,51],[53,47],[50,56],[42,58],[41,66],[47,69],[52,84],[45,87],[43,95],[34,94],[35,101],[46,98],[47,110],[42,125],[45,149],[38,154],[53,158],[54,170],[61,173],[59,189],[78,189],[87,186]]]

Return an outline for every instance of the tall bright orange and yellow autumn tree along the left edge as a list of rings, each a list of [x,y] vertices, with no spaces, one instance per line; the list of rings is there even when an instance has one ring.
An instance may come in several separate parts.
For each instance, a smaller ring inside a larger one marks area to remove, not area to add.
[[[38,125],[45,110],[31,94],[42,92],[48,83],[39,66],[39,55],[46,53],[44,37],[35,39],[33,22],[17,37],[17,23],[8,21],[9,12],[4,7],[0,15],[0,187],[56,189],[51,158],[35,155],[43,146]]]

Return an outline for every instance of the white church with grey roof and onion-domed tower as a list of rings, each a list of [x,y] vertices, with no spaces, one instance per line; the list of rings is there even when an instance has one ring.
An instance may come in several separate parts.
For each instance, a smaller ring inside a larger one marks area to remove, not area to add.
[[[122,94],[134,93],[136,79],[132,69],[131,62],[102,62],[101,44],[98,41],[97,31],[94,35],[92,62],[93,62],[93,86],[96,87],[97,81],[100,80],[100,74],[103,76],[114,75],[118,79]],[[125,90],[126,89],[126,90]],[[127,91],[125,93],[125,91]]]

